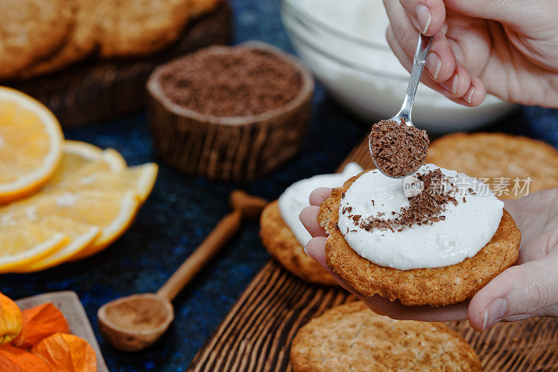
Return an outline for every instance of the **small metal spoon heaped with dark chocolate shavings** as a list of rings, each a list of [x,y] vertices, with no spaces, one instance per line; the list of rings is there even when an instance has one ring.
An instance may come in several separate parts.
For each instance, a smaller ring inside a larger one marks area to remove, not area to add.
[[[423,164],[426,157],[426,150],[428,150],[430,141],[428,141],[425,131],[418,130],[413,125],[411,111],[416,88],[418,82],[421,81],[426,56],[430,50],[430,45],[432,45],[432,38],[433,36],[424,36],[422,33],[418,37],[411,77],[401,109],[393,118],[373,125],[372,132],[370,132],[369,150],[372,162],[379,171],[388,177],[402,178],[414,173]],[[407,125],[407,128],[404,125]],[[400,132],[401,134],[394,135],[394,132]],[[418,144],[418,142],[417,146],[413,146],[412,141],[415,140],[428,142],[425,146]],[[423,154],[422,150],[424,150]]]

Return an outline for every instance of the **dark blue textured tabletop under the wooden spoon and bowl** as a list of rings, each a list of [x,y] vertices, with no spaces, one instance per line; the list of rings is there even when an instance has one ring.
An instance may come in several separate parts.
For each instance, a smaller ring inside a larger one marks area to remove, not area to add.
[[[293,52],[279,17],[278,0],[233,0],[235,42],[263,40]],[[488,130],[543,139],[558,146],[558,111],[525,107]],[[25,275],[4,275],[0,290],[14,298],[75,290],[95,329],[111,371],[184,371],[197,350],[269,256],[257,222],[241,232],[174,301],[176,319],[163,339],[140,354],[111,348],[98,333],[96,311],[132,293],[156,291],[228,211],[229,192],[241,187],[272,200],[294,180],[334,171],[360,141],[366,126],[338,107],[317,86],[315,113],[306,144],[278,171],[249,185],[211,183],[160,167],[158,180],[135,224],[102,253],[77,263]],[[67,130],[68,139],[118,150],[128,164],[157,161],[145,114]]]

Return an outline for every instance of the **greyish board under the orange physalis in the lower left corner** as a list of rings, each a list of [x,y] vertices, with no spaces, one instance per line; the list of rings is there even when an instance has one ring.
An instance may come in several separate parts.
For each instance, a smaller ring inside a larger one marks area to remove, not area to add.
[[[103,355],[100,353],[99,344],[91,328],[91,323],[89,323],[85,309],[75,292],[66,290],[63,292],[43,293],[42,295],[25,297],[16,301],[17,306],[22,310],[47,302],[52,302],[64,314],[72,333],[89,342],[89,345],[95,350],[97,372],[109,372],[105,359],[103,359]]]

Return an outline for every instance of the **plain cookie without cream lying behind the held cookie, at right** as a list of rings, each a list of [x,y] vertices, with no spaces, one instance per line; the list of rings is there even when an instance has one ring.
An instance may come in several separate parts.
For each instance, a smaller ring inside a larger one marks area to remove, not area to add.
[[[447,134],[430,144],[426,160],[485,179],[500,199],[558,187],[558,150],[528,137]]]

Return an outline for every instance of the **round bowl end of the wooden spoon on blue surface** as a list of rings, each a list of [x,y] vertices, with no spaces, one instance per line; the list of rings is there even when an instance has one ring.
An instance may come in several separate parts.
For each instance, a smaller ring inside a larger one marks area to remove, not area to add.
[[[107,302],[98,311],[101,334],[113,346],[138,351],[151,346],[174,319],[174,309],[156,293],[121,297]]]

